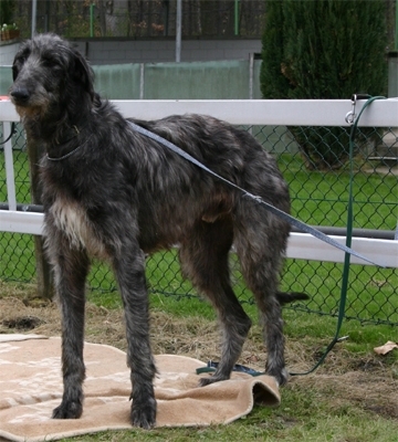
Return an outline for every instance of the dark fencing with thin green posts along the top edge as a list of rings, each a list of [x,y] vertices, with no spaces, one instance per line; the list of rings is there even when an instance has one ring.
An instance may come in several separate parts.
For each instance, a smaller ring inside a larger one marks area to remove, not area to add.
[[[38,1],[38,32],[66,38],[157,38],[176,35],[176,0]],[[263,0],[182,0],[181,34],[187,38],[261,38]],[[14,21],[30,35],[31,0],[20,0]]]

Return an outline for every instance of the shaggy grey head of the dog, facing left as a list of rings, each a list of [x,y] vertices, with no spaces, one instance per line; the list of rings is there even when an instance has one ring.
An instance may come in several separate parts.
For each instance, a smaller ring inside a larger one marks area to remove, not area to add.
[[[21,116],[43,116],[60,105],[90,105],[95,97],[88,63],[55,34],[39,34],[22,43],[12,76],[10,97]]]

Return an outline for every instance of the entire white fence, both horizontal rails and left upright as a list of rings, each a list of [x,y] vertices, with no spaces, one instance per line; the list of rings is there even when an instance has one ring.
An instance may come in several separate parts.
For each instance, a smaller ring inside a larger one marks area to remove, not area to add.
[[[224,119],[235,125],[270,126],[348,126],[346,115],[352,108],[349,99],[300,101],[114,101],[123,115],[156,119],[168,115],[198,113]],[[358,115],[365,101],[356,104]],[[11,130],[11,122],[19,116],[9,101],[0,101],[0,122],[3,136]],[[375,101],[362,115],[359,127],[398,127],[398,98]],[[43,214],[17,211],[11,140],[4,145],[6,176],[9,210],[0,210],[0,231],[41,234]],[[345,243],[344,236],[332,236]],[[353,249],[370,260],[398,267],[398,241],[355,238]],[[292,233],[287,256],[314,261],[343,262],[344,252],[306,233]],[[353,263],[366,264],[352,257]]]

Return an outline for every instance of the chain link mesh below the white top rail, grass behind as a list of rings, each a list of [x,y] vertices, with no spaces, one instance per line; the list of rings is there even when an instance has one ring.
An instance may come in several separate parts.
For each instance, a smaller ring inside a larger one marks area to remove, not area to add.
[[[17,200],[19,203],[28,204],[31,199],[25,138],[21,126],[19,124],[17,126],[17,134],[12,137]],[[344,136],[336,136],[336,133],[343,134],[346,129],[282,126],[254,126],[245,129],[276,157],[280,169],[290,183],[294,217],[313,225],[346,227],[349,183],[346,164],[348,143],[345,144]],[[305,149],[297,143],[300,140],[297,131],[306,134],[310,140]],[[398,219],[398,134],[391,128],[366,128],[359,131],[354,159],[354,228],[385,231],[389,238],[394,238]],[[334,143],[341,143],[337,149],[341,155],[333,161],[327,160],[328,157],[323,150],[325,148],[323,140],[332,138]],[[320,157],[320,152],[323,152],[324,158],[322,167],[314,161],[314,158]],[[2,150],[0,150],[1,201],[7,201]],[[0,232],[0,280],[22,283],[35,281],[34,243],[31,235]],[[231,269],[237,295],[242,303],[251,303],[252,295],[244,286],[233,253],[231,253]],[[334,316],[338,311],[342,273],[343,264],[287,259],[282,275],[282,288],[305,292],[311,296],[307,303],[296,304],[292,308]],[[184,281],[180,275],[176,250],[148,256],[147,278],[151,292],[174,296],[176,299],[197,296],[190,283]],[[397,286],[397,269],[353,264],[346,318],[398,325]],[[94,264],[90,287],[92,291],[116,291],[109,269]]]

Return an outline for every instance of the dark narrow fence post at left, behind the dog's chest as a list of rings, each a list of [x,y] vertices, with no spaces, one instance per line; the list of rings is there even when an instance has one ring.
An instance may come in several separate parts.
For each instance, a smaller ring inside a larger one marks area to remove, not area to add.
[[[39,181],[39,160],[41,157],[41,147],[39,146],[39,144],[32,140],[29,134],[27,134],[27,147],[31,181],[31,199],[33,204],[40,204],[41,190]],[[34,235],[34,254],[38,296],[50,299],[54,295],[54,283],[51,266],[44,253],[44,240],[42,236]]]

